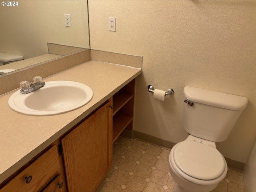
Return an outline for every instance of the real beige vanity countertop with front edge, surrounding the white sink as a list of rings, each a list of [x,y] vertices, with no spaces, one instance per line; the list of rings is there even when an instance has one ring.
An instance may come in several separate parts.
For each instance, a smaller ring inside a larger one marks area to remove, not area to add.
[[[140,68],[88,61],[45,78],[44,81],[81,82],[94,94],[85,106],[53,116],[20,114],[8,106],[14,91],[0,96],[0,183],[140,73]]]

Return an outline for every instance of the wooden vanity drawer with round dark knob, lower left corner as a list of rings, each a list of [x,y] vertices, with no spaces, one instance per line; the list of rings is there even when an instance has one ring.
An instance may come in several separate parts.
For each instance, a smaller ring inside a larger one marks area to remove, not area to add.
[[[0,192],[36,192],[60,174],[57,146],[52,146],[32,164],[8,182]],[[29,182],[32,176],[31,181]]]

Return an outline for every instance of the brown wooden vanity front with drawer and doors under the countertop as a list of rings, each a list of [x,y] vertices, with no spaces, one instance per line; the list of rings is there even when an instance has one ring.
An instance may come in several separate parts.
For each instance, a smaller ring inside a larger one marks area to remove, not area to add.
[[[110,98],[58,138],[0,192],[94,192],[112,163],[112,104]]]

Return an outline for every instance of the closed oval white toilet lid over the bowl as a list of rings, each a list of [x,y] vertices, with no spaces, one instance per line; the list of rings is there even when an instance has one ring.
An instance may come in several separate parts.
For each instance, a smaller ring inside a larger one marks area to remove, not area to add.
[[[186,140],[174,149],[174,161],[185,174],[200,180],[218,178],[225,170],[225,160],[214,147]]]

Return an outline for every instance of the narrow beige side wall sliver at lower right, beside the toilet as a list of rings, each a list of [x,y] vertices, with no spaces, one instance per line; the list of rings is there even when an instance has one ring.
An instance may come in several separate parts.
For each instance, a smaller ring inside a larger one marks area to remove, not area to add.
[[[250,158],[244,168],[244,191],[256,192],[256,142]]]

